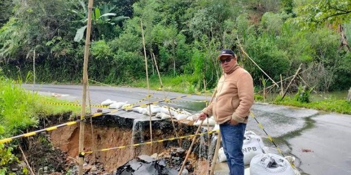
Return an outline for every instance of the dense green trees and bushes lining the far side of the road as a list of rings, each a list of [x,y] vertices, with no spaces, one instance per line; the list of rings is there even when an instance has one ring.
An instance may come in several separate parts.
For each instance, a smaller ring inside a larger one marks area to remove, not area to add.
[[[0,4],[0,66],[9,77],[23,78],[35,60],[37,81],[80,82],[87,0]],[[222,73],[216,56],[232,48],[260,88],[267,77],[240,43],[275,81],[302,63],[301,78],[314,90],[348,89],[350,11],[349,0],[94,0],[89,77],[114,84],[145,78],[142,21],[150,75],[154,54],[162,75],[213,87]],[[297,91],[301,81],[293,83]]]

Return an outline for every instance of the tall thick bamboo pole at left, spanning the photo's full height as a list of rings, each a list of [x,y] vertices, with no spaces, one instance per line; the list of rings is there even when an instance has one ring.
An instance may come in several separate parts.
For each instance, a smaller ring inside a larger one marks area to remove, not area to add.
[[[84,63],[83,63],[83,95],[82,95],[82,109],[80,119],[85,117],[85,105],[87,98],[87,83],[88,83],[88,56],[89,56],[89,45],[90,45],[90,30],[91,30],[91,12],[93,9],[93,0],[89,0],[88,3],[88,24],[85,38],[85,49],[84,49]],[[79,127],[79,153],[84,150],[84,122],[80,122]],[[83,162],[84,155],[78,155],[78,174],[83,174]]]

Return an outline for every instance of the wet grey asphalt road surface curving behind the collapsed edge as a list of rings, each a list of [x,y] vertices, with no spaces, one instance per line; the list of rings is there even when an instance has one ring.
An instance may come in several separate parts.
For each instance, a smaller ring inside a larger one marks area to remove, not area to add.
[[[42,94],[67,94],[62,95],[62,98],[68,100],[81,100],[82,96],[81,85],[23,84],[23,86],[30,90],[39,90]],[[150,90],[150,93],[152,92],[154,90]],[[168,98],[184,95],[175,92],[166,92],[166,94]],[[106,99],[133,103],[144,98],[145,95],[147,90],[142,88],[90,86],[90,97],[94,104]],[[163,93],[157,91],[151,101],[163,98]],[[204,99],[205,96],[194,95],[177,99],[183,102],[174,102],[170,105],[197,112],[205,104],[189,101]],[[209,100],[210,97],[207,99]],[[143,103],[145,102],[147,101]],[[351,151],[349,151],[351,115],[263,103],[255,103],[252,112],[280,149],[286,154],[297,157],[295,164],[306,174],[351,174]],[[267,138],[252,117],[247,129]],[[264,141],[266,145],[274,147],[268,139]]]

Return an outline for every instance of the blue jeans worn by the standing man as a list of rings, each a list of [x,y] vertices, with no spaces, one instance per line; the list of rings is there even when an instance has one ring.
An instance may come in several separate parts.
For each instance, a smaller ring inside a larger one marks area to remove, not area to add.
[[[229,175],[244,175],[244,154],[242,152],[246,124],[220,124],[224,154],[227,156]]]

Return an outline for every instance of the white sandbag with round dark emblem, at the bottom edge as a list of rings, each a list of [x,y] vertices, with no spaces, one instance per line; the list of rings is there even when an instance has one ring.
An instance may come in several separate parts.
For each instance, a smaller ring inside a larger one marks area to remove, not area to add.
[[[251,175],[295,175],[294,169],[284,157],[267,153],[254,156],[250,162]]]

